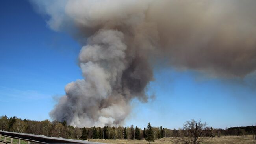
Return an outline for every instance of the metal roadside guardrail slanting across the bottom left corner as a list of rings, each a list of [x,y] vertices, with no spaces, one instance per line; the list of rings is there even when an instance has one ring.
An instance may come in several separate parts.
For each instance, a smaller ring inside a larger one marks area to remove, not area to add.
[[[73,140],[73,139],[64,139],[60,137],[46,137],[44,135],[33,135],[27,133],[15,133],[9,131],[1,131],[0,135],[5,137],[10,137],[14,139],[26,140],[29,142],[35,142],[40,144],[50,144],[50,143],[73,143],[73,144],[103,144],[99,142],[88,142],[83,140]]]

